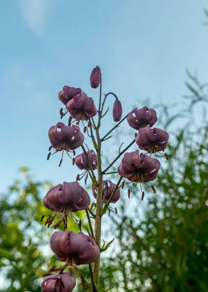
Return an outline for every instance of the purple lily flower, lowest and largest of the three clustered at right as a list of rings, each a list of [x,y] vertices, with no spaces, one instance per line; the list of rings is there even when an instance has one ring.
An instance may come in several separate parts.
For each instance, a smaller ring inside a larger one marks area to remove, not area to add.
[[[139,150],[136,150],[124,154],[118,173],[131,182],[146,183],[156,179],[159,168],[157,159],[145,154],[139,157]]]

